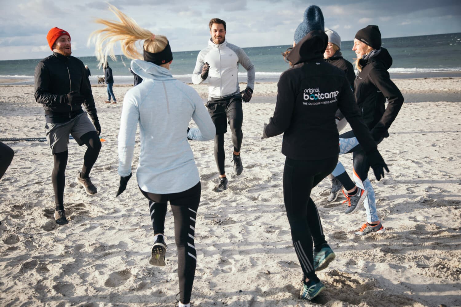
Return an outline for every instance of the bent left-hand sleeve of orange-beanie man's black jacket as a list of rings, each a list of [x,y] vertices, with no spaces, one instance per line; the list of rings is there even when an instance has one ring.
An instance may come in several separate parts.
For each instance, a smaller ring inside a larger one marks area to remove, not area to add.
[[[35,101],[45,106],[58,106],[65,104],[66,95],[49,93],[50,72],[43,62],[39,62],[35,67]]]

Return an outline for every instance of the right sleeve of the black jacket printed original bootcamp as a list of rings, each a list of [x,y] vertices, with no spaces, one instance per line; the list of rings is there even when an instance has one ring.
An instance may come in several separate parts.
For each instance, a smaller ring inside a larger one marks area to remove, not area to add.
[[[349,82],[346,82],[346,80],[344,80],[341,93],[341,97],[338,99],[338,107],[349,122],[355,137],[361,144],[365,153],[376,150],[378,147],[363,121],[361,110],[355,103],[354,93],[350,90]]]

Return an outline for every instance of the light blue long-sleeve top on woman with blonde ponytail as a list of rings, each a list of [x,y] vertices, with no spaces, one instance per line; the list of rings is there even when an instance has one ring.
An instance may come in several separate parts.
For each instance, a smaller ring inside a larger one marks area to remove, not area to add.
[[[118,174],[128,176],[139,122],[141,152],[136,171],[143,191],[168,194],[185,191],[200,181],[187,138],[211,140],[215,127],[199,94],[173,78],[170,70],[133,60],[131,70],[143,81],[124,97],[118,133]],[[198,128],[187,128],[190,119]]]

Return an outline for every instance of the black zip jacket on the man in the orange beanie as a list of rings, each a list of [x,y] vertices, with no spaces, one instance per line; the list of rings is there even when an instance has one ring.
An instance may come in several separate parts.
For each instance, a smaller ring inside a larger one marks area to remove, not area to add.
[[[93,121],[98,118],[91,85],[83,62],[53,52],[35,67],[35,101],[43,104],[48,123],[67,122],[83,113],[82,104],[67,104],[67,94],[78,91],[85,97],[85,109]]]

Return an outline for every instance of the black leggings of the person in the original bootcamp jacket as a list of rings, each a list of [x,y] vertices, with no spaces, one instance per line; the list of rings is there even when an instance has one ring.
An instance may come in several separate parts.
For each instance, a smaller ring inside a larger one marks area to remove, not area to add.
[[[310,280],[317,280],[312,245],[319,249],[326,243],[319,212],[310,194],[312,188],[333,171],[337,161],[338,156],[313,161],[285,159],[284,202],[291,238],[304,278]]]

